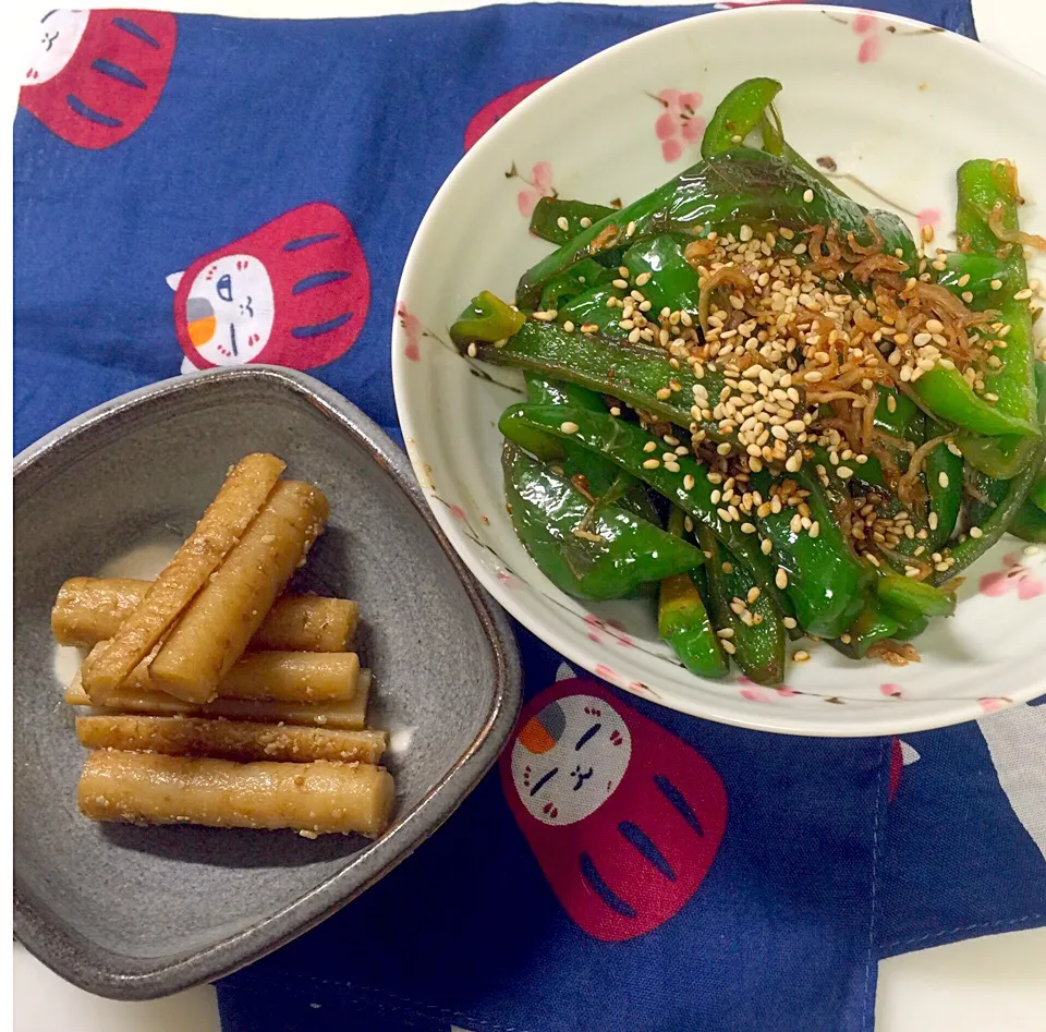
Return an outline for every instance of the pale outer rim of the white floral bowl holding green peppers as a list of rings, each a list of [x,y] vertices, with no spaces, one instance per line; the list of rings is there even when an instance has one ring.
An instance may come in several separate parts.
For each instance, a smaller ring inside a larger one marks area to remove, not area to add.
[[[656,28],[648,29],[647,32],[637,33],[634,36],[630,36],[628,39],[623,39],[611,47],[600,50],[597,53],[586,58],[584,61],[581,61],[577,64],[564,70],[559,75],[556,75],[552,80],[546,83],[540,89],[535,90],[533,94],[530,94],[527,97],[521,100],[508,113],[499,119],[495,125],[484,133],[484,135],[473,145],[473,147],[459,159],[458,163],[450,171],[449,175],[437,191],[435,197],[429,203],[422,221],[418,223],[418,228],[414,234],[414,240],[412,241],[410,251],[408,252],[406,262],[403,265],[403,271],[400,276],[399,286],[397,287],[397,301],[391,320],[392,388],[396,399],[397,416],[399,418],[403,438],[406,444],[408,456],[414,466],[415,473],[419,478],[425,465],[425,456],[418,448],[417,441],[419,440],[419,437],[416,432],[414,415],[410,405],[406,403],[406,396],[411,390],[411,388],[408,387],[411,364],[408,362],[403,353],[403,349],[397,347],[400,337],[400,328],[398,326],[400,319],[399,311],[401,303],[409,299],[413,282],[419,280],[424,276],[425,258],[423,252],[427,248],[427,241],[425,238],[429,231],[428,223],[431,219],[433,213],[437,208],[447,204],[448,198],[458,189],[459,181],[469,174],[469,169],[471,166],[481,160],[487,150],[492,150],[496,146],[499,146],[502,139],[508,139],[515,131],[516,125],[521,125],[524,120],[530,118],[532,108],[547,102],[547,100],[542,98],[547,98],[550,90],[569,87],[575,78],[585,75],[589,68],[594,65],[598,65],[600,63],[610,64],[611,62],[616,61],[620,62],[624,58],[624,54],[629,48],[635,47],[640,40],[647,40],[649,38],[659,35],[668,35],[670,33],[688,32],[693,29],[694,25],[697,23],[707,25],[709,23],[709,19],[716,20],[717,23],[721,23],[727,19],[731,19],[739,22],[743,31],[743,26],[746,24],[746,22],[773,22],[774,20],[802,22],[803,20],[816,19],[825,14],[837,15],[849,21],[861,13],[872,14],[877,21],[885,25],[920,29],[925,33],[932,33],[935,36],[947,37],[949,45],[959,47],[960,51],[965,50],[971,53],[976,52],[981,60],[986,60],[990,64],[1006,69],[1009,74],[1013,74],[1025,80],[1030,87],[1037,88],[1039,92],[1046,87],[1046,76],[1043,76],[1033,69],[1027,68],[1027,65],[1006,58],[996,51],[984,47],[975,39],[951,32],[950,29],[944,28],[939,25],[933,25],[917,19],[891,14],[883,11],[862,11],[861,9],[852,7],[820,3],[806,4],[771,2],[711,11],[704,14],[681,17],[678,21],[669,22],[666,25],[660,25]],[[436,515],[436,520],[447,533],[448,538],[452,543],[455,542],[458,539],[459,532],[458,527],[454,525],[451,514],[441,507],[435,506],[428,498],[427,494],[425,498],[426,501],[431,506]],[[469,569],[472,570],[472,572],[483,584],[483,586],[490,592],[498,604],[503,606],[515,620],[526,627],[527,630],[539,638],[543,642],[548,644],[551,648],[555,648],[557,652],[563,655],[571,663],[576,663],[586,670],[594,672],[599,660],[594,658],[593,647],[586,649],[582,643],[575,645],[571,641],[564,640],[554,621],[547,621],[542,616],[535,618],[533,616],[532,607],[522,604],[518,595],[500,584],[491,571],[487,570],[482,563],[476,562],[472,558],[465,559],[464,561]],[[540,626],[540,629],[538,629],[538,626]],[[698,682],[701,680],[702,679],[700,678],[697,679]],[[890,707],[887,709],[886,705],[884,705],[881,716],[877,718],[873,718],[872,714],[867,712],[862,712],[859,721],[854,721],[855,724],[860,723],[860,727],[843,724],[810,725],[803,719],[802,714],[799,711],[786,711],[783,707],[777,708],[753,705],[747,707],[749,711],[751,711],[751,715],[746,715],[744,718],[739,718],[731,712],[725,713],[714,700],[710,700],[705,695],[700,699],[697,705],[685,707],[684,705],[679,704],[678,701],[669,703],[659,699],[652,700],[647,695],[642,695],[638,692],[633,691],[625,683],[615,683],[615,687],[620,691],[628,692],[629,694],[635,694],[647,702],[653,702],[656,705],[664,706],[668,709],[674,709],[678,713],[684,713],[689,716],[698,717],[701,719],[715,720],[719,724],[732,725],[734,727],[743,727],[757,731],[769,731],[778,734],[795,734],[815,738],[878,737],[884,734],[909,733],[913,731],[950,727],[966,720],[977,719],[985,715],[985,711],[980,706],[977,700],[941,700],[939,702],[927,700],[925,702],[910,702],[903,707],[903,709],[901,707]],[[1026,699],[1033,699],[1037,694],[1039,694],[1039,691],[1013,693],[1013,702],[1017,703]]]

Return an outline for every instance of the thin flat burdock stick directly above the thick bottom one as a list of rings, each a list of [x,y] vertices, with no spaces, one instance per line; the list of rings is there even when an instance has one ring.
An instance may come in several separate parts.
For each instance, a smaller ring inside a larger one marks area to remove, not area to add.
[[[309,763],[377,763],[388,744],[385,731],[127,714],[76,718],[76,737],[88,749],[121,749],[218,760],[281,760]]]

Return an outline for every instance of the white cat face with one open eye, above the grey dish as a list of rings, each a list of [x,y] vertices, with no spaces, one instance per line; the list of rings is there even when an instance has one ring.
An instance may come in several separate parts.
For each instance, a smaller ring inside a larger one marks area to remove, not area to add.
[[[269,274],[253,255],[221,255],[196,274],[184,316],[188,339],[207,364],[251,362],[272,331]]]

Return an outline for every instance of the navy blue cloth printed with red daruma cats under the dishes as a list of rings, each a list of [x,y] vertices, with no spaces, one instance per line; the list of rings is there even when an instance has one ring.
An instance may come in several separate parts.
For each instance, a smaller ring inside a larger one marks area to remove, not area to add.
[[[968,0],[880,7],[972,35]],[[48,15],[15,123],[16,447],[227,361],[309,369],[398,434],[400,268],[463,149],[542,81],[710,10]],[[872,1025],[880,956],[1046,921],[1025,769],[1046,707],[779,738],[625,697],[518,632],[521,744],[401,867],[220,983],[228,1032],[847,1032]],[[611,798],[528,809],[530,757],[582,739],[571,777]]]

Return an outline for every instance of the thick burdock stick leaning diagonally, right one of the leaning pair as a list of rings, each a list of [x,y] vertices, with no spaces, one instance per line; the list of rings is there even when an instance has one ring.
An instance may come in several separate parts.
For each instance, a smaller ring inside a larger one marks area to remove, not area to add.
[[[323,491],[282,481],[207,586],[193,599],[149,666],[161,691],[208,702],[327,521]],[[127,671],[130,672],[130,671]],[[87,694],[89,687],[85,683]]]

